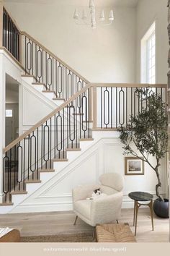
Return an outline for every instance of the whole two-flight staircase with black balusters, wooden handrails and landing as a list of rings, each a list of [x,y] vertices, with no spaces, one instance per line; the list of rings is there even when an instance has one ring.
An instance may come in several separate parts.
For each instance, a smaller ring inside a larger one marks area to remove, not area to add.
[[[9,213],[36,189],[84,153],[97,139],[94,131],[115,131],[143,107],[137,88],[166,85],[90,83],[27,33],[3,10],[3,46],[23,69],[22,80],[56,104],[56,108],[4,148],[3,202]],[[11,27],[13,34],[6,34]],[[10,38],[12,36],[12,38]]]

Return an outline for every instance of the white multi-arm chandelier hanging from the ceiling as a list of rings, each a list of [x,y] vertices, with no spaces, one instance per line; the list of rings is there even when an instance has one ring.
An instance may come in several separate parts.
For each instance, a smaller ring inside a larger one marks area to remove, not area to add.
[[[79,12],[77,9],[75,9],[73,14],[73,19],[76,22],[76,25],[91,25],[92,28],[97,27],[97,21],[96,21],[96,9],[94,5],[94,0],[89,0],[89,9],[90,9],[90,21],[88,21],[86,10],[83,9],[81,18],[79,17]],[[113,10],[111,9],[109,11],[109,17],[108,20],[105,19],[104,9],[102,9],[102,12],[99,15],[99,25],[111,25],[114,21],[114,14]]]

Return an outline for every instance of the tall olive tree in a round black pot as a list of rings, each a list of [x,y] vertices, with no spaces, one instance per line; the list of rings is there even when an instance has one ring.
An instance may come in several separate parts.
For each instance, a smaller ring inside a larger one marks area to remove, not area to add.
[[[157,199],[153,202],[153,210],[157,216],[169,217],[169,200],[164,199],[159,192],[161,176],[159,169],[161,158],[168,150],[168,116],[167,104],[162,101],[161,95],[151,93],[149,90],[137,90],[143,107],[139,114],[131,115],[128,125],[120,127],[120,140],[123,143],[124,154],[140,158],[155,171],[158,183],[156,184]],[[146,100],[147,98],[147,100]],[[134,147],[138,149],[134,150]],[[151,155],[155,158],[153,165]]]

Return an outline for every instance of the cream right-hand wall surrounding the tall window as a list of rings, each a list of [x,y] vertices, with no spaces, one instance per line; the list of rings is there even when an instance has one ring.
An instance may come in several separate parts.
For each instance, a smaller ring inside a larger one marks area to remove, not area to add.
[[[156,20],[156,83],[167,82],[167,1],[139,0],[136,12],[136,82],[140,82],[140,40]]]

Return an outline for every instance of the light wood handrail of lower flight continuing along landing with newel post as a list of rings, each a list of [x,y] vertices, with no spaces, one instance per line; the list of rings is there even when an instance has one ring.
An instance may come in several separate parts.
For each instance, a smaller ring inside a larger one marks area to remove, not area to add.
[[[113,87],[113,88],[141,88],[141,87],[142,88],[146,88],[146,87],[148,87],[148,88],[166,88],[166,84],[149,85],[149,84],[121,84],[121,83],[89,83],[84,88],[79,90],[78,93],[75,93],[71,98],[69,98],[68,101],[66,101],[63,104],[61,104],[61,106],[58,106],[58,108],[56,108],[54,111],[52,111],[50,114],[48,114],[48,116],[45,116],[43,119],[41,119],[39,122],[37,122],[37,124],[35,124],[32,128],[27,130],[27,132],[24,132],[23,135],[19,136],[16,140],[14,140],[9,145],[7,145],[6,148],[4,148],[3,152],[6,153],[8,150],[13,148],[14,145],[17,145],[17,143],[21,142],[25,137],[30,135],[30,133],[34,132],[35,129],[37,129],[42,124],[44,124],[45,121],[48,121],[55,114],[57,114],[63,108],[68,106],[68,104],[71,103],[71,101],[74,101],[76,98],[79,97],[79,95],[84,93],[89,88],[93,88],[94,89],[94,96],[97,97],[97,92],[95,90],[97,87]],[[93,108],[94,108],[94,110],[93,110],[93,119],[95,119],[94,115],[95,115],[95,113],[97,111],[95,104],[96,104],[96,101],[93,102]],[[93,121],[96,124],[96,121],[95,120],[93,120]]]

